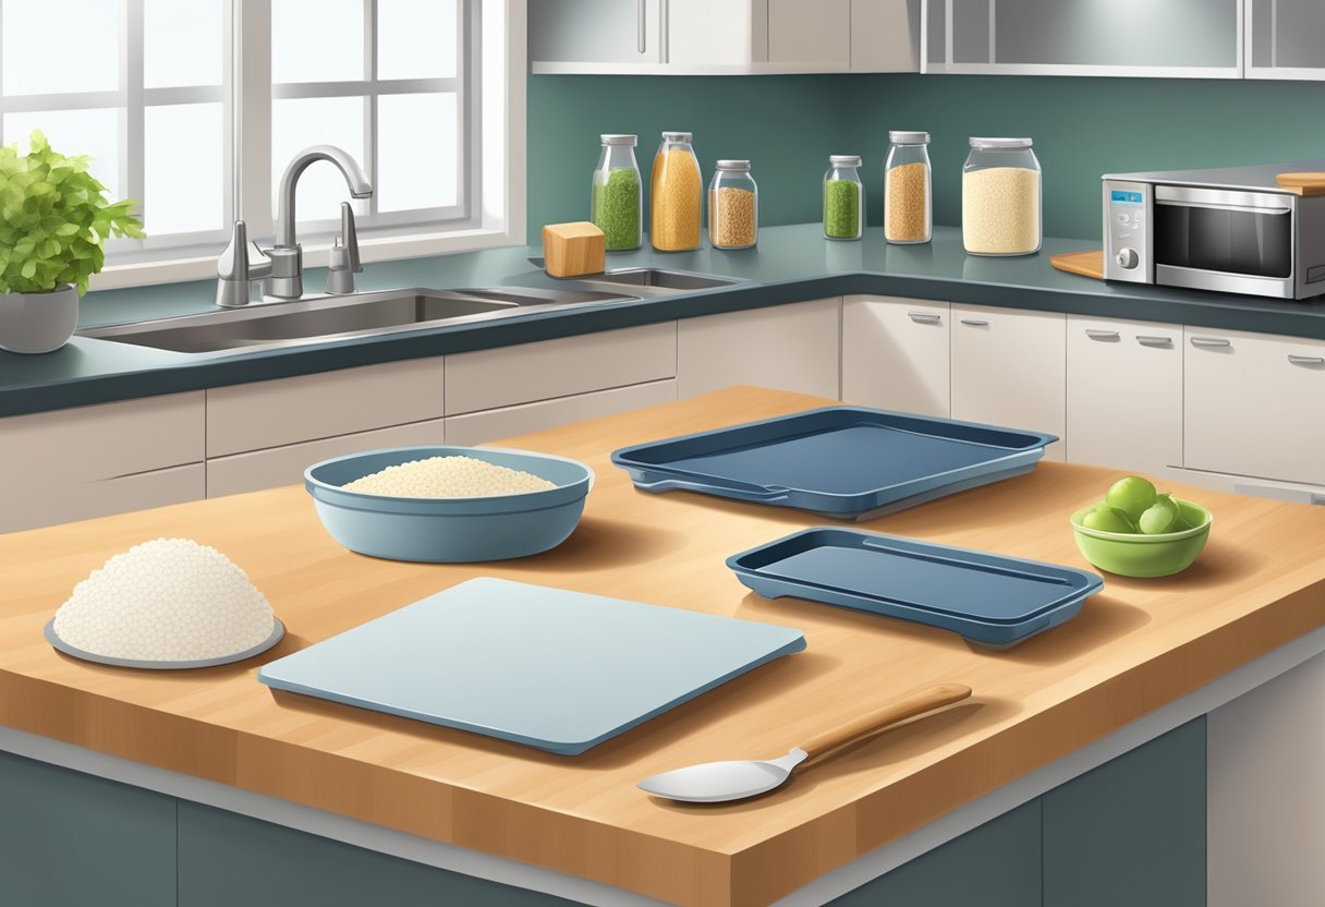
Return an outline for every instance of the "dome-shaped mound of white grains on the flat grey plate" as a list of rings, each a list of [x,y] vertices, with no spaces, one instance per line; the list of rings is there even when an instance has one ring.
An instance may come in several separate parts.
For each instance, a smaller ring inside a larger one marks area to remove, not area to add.
[[[54,629],[105,658],[200,662],[253,648],[274,623],[266,598],[228,557],[188,538],[158,538],[74,586]]]

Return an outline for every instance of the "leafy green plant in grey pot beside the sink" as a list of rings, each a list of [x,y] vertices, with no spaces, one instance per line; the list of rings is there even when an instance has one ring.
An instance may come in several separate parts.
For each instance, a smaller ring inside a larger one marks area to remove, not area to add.
[[[30,150],[0,147],[0,349],[50,353],[78,326],[78,297],[105,261],[107,236],[142,237],[131,200],[110,202],[87,172],[33,131]]]

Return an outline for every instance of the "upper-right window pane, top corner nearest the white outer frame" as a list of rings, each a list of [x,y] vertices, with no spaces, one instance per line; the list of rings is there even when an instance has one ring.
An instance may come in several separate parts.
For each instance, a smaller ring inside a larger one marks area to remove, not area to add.
[[[378,0],[378,78],[456,76],[456,0]]]

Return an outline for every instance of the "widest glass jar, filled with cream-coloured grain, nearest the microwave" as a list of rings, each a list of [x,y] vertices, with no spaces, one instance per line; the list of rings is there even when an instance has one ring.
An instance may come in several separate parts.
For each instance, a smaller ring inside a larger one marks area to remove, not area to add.
[[[1027,138],[973,138],[962,167],[962,241],[970,255],[1040,251],[1040,162]]]

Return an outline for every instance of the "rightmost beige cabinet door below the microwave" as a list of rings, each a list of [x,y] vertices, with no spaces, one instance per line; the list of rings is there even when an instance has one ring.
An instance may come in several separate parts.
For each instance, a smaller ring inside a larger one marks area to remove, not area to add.
[[[1325,341],[1183,335],[1183,465],[1325,484]]]

